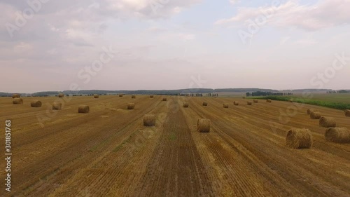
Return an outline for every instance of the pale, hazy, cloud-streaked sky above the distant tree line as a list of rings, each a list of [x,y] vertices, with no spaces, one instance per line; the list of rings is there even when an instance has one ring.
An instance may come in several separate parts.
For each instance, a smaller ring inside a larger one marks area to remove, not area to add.
[[[350,0],[0,0],[0,92],[350,89]]]

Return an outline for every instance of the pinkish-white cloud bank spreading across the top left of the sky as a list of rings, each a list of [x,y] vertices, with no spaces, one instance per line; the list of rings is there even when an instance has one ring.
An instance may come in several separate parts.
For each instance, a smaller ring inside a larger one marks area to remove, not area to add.
[[[59,32],[64,34],[66,29],[83,30],[87,34],[102,33],[103,31],[97,27],[108,20],[169,18],[200,1],[202,0],[101,0],[93,4],[91,1],[83,0],[74,1],[74,4],[69,0],[50,1],[50,4],[41,4],[41,9],[34,13],[34,17],[27,20],[24,27],[13,32],[15,36],[12,40],[23,39],[23,37],[27,37],[28,32],[38,36],[48,36],[48,34],[43,34],[43,29],[57,34]],[[153,5],[158,5],[155,10]],[[19,1],[0,2],[0,10],[3,11],[0,18],[0,23],[3,24],[0,27],[0,34],[8,34],[4,24],[9,22],[15,25],[18,18],[16,13],[22,13],[26,8],[31,7]],[[46,23],[41,22],[43,20]],[[104,29],[106,29],[106,24],[104,24]],[[8,34],[0,39],[9,40],[10,36]]]

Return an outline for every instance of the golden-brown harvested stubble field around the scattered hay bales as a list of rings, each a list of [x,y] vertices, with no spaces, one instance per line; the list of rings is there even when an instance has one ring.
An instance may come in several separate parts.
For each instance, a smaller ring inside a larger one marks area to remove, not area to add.
[[[22,105],[1,97],[1,130],[12,121],[13,171],[11,193],[1,184],[0,196],[350,195],[350,144],[325,142],[325,128],[306,112],[317,109],[350,128],[343,111],[265,100],[248,106],[229,97],[162,97],[73,97],[56,112],[47,109],[57,97],[24,97]],[[32,100],[43,107],[31,108]],[[133,110],[128,102],[135,103]],[[89,105],[90,113],[78,114],[80,104]],[[46,117],[42,124],[38,114]],[[144,127],[145,114],[156,114],[155,127]],[[196,131],[198,118],[211,120],[210,133]],[[286,147],[290,128],[311,130],[311,149]],[[4,147],[5,135],[0,141]],[[6,165],[3,159],[0,165]]]

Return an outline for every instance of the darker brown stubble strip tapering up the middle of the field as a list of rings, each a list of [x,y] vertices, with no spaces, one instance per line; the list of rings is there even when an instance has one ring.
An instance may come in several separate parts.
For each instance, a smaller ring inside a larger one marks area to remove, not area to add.
[[[170,104],[179,104],[177,97]],[[179,104],[180,106],[180,104]],[[160,140],[135,196],[214,196],[207,172],[179,109],[168,112]]]

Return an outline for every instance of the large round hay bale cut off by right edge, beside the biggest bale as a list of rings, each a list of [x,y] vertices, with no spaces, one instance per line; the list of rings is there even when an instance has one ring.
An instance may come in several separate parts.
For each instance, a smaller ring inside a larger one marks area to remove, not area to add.
[[[350,130],[347,128],[328,128],[325,130],[325,141],[335,143],[349,143]]]

